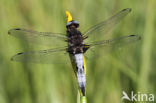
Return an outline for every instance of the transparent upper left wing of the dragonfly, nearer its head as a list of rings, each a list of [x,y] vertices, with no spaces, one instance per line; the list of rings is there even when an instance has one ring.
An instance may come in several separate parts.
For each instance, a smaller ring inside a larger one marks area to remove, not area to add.
[[[65,35],[51,32],[37,32],[23,28],[15,28],[8,31],[8,34],[15,36],[28,43],[43,44],[43,45],[57,45],[66,46]]]

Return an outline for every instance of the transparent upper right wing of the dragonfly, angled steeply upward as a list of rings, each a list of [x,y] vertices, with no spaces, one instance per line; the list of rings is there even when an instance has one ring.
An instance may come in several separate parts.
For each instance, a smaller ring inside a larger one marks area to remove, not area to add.
[[[130,11],[130,8],[123,9],[109,19],[89,28],[86,32],[83,33],[84,37],[88,37],[86,41],[90,41],[90,39],[102,39],[102,35],[105,35],[111,31],[117,23],[119,23],[128,13],[130,13]]]

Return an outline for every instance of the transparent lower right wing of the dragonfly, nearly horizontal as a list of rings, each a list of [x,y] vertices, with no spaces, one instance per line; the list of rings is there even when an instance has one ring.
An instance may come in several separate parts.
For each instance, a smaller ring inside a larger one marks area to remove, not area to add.
[[[97,57],[97,51],[102,50],[104,54],[114,52],[114,50],[132,44],[141,39],[139,35],[128,35],[111,40],[103,40],[98,42],[88,43],[90,45],[89,50],[85,53],[87,58]],[[103,55],[100,55],[102,57]]]

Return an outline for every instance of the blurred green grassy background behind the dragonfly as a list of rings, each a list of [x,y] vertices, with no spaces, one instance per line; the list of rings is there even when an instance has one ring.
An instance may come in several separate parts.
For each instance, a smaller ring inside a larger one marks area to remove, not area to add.
[[[8,35],[9,29],[65,33],[65,11],[69,10],[84,31],[124,8],[132,12],[113,36],[139,34],[142,40],[112,53],[96,51],[98,56],[87,60],[88,103],[121,103],[122,91],[156,96],[155,0],[0,0],[0,103],[77,101],[77,81],[70,63],[10,61],[11,56],[31,47]]]

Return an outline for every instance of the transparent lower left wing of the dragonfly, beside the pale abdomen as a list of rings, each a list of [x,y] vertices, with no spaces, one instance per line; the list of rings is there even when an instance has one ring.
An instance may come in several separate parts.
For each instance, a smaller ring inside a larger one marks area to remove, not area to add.
[[[27,63],[67,63],[69,56],[66,48],[56,48],[49,50],[22,52],[14,55],[12,61]]]

